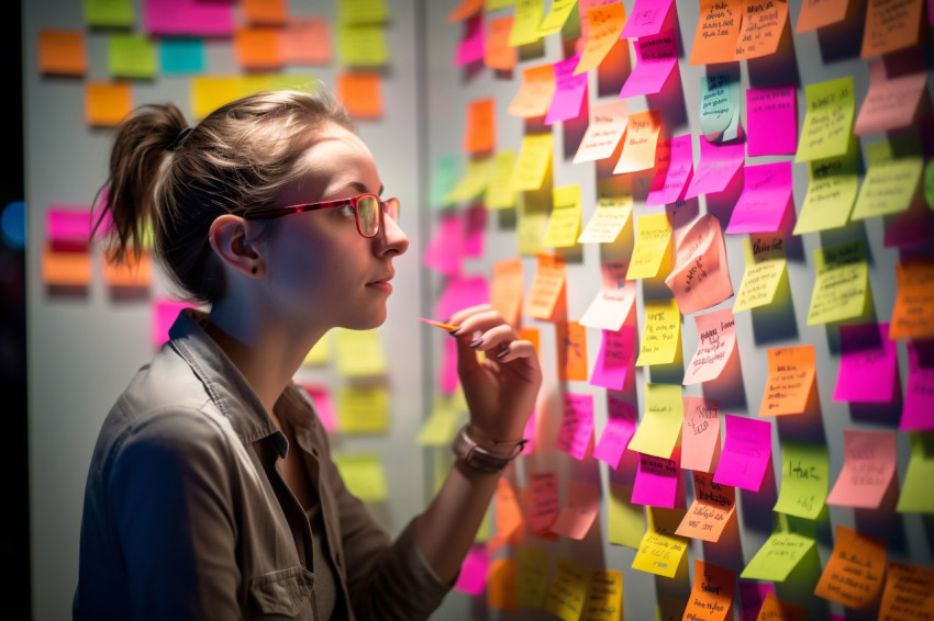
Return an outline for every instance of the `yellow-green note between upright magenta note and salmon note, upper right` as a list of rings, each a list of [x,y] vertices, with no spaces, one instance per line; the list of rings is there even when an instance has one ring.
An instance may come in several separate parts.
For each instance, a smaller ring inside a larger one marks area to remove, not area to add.
[[[807,112],[794,161],[846,154],[856,115],[853,77],[808,84],[804,97]]]

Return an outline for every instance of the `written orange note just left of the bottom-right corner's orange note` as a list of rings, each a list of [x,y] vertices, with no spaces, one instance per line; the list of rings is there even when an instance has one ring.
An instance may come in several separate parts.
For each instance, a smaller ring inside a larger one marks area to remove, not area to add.
[[[814,595],[847,608],[866,608],[882,591],[886,542],[837,524],[834,551]]]

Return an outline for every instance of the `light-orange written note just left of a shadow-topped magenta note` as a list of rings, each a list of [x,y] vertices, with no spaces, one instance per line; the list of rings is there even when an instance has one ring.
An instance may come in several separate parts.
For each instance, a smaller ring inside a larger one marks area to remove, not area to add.
[[[759,416],[803,414],[814,389],[814,346],[801,345],[768,350],[768,376]]]

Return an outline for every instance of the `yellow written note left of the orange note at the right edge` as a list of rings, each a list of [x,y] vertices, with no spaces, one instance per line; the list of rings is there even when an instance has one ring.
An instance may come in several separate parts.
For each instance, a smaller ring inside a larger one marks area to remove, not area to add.
[[[863,315],[869,303],[869,266],[861,241],[815,249],[814,269],[809,326]]]

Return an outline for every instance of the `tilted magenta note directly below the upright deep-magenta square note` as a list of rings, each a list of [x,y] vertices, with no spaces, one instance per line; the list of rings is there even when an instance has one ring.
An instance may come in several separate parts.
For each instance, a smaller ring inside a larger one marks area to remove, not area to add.
[[[775,233],[791,204],[791,162],[747,166],[726,233]]]

